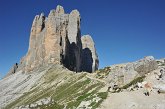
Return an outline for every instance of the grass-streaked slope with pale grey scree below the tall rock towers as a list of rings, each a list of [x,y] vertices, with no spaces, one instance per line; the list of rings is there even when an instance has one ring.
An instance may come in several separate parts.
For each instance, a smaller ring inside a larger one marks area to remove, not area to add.
[[[105,83],[88,73],[75,73],[61,65],[42,72],[17,72],[0,81],[2,109],[74,109],[97,108],[107,92]]]

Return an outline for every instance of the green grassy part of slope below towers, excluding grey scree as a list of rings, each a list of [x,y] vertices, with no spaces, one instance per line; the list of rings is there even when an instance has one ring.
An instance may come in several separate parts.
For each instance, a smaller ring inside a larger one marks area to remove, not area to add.
[[[42,98],[51,97],[55,103],[42,106],[41,109],[67,109],[77,107],[82,101],[92,100],[94,97],[101,98],[99,102],[92,102],[91,107],[100,105],[107,93],[98,92],[104,87],[104,83],[91,80],[86,73],[75,74],[62,68],[52,68],[36,83],[28,93],[7,105],[5,109],[13,109],[16,106],[28,105]]]

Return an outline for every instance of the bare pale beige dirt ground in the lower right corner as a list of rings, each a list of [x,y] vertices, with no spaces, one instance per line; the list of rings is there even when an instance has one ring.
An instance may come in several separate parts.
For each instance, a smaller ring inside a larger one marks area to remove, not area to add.
[[[145,96],[143,90],[109,93],[100,109],[165,109],[165,94]]]

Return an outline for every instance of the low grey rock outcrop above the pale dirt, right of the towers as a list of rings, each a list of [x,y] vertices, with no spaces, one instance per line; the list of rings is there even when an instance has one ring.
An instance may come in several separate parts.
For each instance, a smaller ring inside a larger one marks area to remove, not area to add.
[[[147,73],[158,68],[157,62],[153,56],[147,56],[139,61],[114,65],[111,67],[111,73],[107,77],[110,86],[123,86],[138,77],[143,77]]]

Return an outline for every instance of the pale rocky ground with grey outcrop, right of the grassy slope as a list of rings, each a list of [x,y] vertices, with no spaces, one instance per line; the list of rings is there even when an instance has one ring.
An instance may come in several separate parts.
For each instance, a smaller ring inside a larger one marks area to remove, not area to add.
[[[165,59],[113,65],[96,77],[107,81],[109,91],[101,109],[165,109]]]

